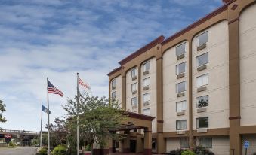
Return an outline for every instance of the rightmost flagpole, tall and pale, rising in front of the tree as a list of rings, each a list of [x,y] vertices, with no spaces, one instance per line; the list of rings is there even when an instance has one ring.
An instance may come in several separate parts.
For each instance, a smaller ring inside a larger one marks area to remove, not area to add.
[[[77,102],[76,102],[76,144],[77,144],[77,155],[79,155],[79,73],[76,73],[77,75],[77,85],[76,85],[76,91],[77,91]]]

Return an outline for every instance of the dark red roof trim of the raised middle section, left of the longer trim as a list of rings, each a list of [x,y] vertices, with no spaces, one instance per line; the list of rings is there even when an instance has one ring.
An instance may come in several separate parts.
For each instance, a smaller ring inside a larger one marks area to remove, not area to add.
[[[147,50],[150,50],[151,48],[155,47],[157,44],[161,44],[162,41],[165,40],[165,37],[163,35],[159,36],[155,40],[151,41],[149,44],[146,44],[145,46],[141,47],[136,52],[132,53],[130,56],[127,56],[125,59],[122,59],[119,64],[125,65],[125,63],[131,61],[131,59],[134,59],[135,57],[139,56],[140,54],[147,52]]]

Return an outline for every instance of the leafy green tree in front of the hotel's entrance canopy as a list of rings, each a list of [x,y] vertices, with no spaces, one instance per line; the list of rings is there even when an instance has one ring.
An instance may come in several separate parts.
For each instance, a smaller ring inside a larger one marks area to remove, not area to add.
[[[68,99],[63,108],[68,118],[69,147],[76,150],[76,97],[75,100]],[[125,111],[118,102],[109,102],[105,97],[79,95],[79,139],[83,145],[89,144],[92,148],[95,143],[103,148],[108,138],[117,140],[119,136],[109,130],[119,128],[125,119]]]

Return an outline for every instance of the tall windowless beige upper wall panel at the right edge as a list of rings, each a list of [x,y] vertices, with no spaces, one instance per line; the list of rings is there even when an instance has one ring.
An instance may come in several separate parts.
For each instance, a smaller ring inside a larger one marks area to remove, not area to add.
[[[256,5],[240,16],[241,126],[256,125]]]

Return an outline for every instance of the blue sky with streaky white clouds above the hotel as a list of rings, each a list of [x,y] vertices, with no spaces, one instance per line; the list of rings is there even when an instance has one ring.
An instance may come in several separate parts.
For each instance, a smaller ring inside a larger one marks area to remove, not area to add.
[[[169,37],[223,5],[221,0],[1,0],[0,100],[3,129],[40,130],[46,78],[51,122],[76,94],[76,73],[108,96],[107,73],[159,35]],[[43,114],[43,126],[47,114]]]

